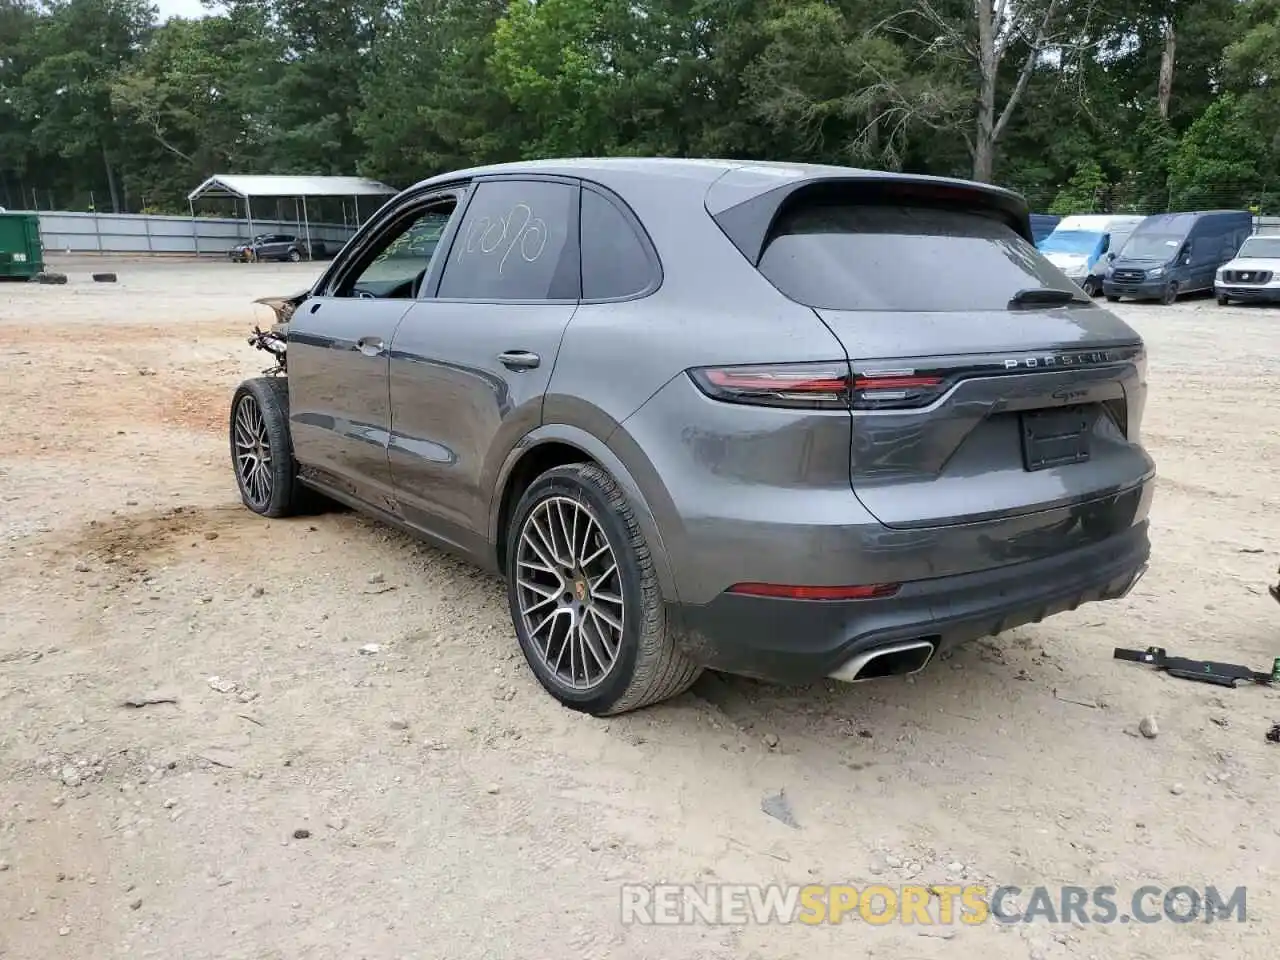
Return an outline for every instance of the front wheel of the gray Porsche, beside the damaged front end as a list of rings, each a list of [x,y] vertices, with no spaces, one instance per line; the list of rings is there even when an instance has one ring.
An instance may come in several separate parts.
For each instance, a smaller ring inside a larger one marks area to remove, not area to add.
[[[229,434],[244,506],[264,517],[298,513],[303,492],[289,436],[289,381],[259,376],[242,383],[232,398]]]

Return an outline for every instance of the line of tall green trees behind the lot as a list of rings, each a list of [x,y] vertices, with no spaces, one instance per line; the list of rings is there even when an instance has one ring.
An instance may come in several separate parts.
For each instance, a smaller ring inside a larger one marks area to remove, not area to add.
[[[205,1],[0,0],[0,205],[677,155],[1280,212],[1280,0]]]

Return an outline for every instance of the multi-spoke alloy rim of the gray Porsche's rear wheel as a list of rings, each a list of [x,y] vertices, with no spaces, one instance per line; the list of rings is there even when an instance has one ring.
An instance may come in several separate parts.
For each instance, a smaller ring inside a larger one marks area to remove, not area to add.
[[[626,603],[600,522],[568,497],[540,500],[516,549],[516,594],[531,646],[571,690],[596,687],[618,662]]]

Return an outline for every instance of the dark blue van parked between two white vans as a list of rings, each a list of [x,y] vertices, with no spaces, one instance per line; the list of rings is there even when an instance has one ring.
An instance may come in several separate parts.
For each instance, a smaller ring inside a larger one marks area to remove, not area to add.
[[[1253,233],[1248,210],[1156,214],[1129,234],[1102,274],[1102,292],[1172,303],[1184,293],[1212,291],[1217,268]]]

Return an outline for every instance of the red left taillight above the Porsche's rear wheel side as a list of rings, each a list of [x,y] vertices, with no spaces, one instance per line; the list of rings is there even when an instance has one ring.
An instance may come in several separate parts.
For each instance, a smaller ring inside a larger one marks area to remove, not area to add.
[[[938,374],[868,369],[844,361],[699,367],[689,375],[718,401],[800,410],[906,410],[925,407],[946,389]]]

